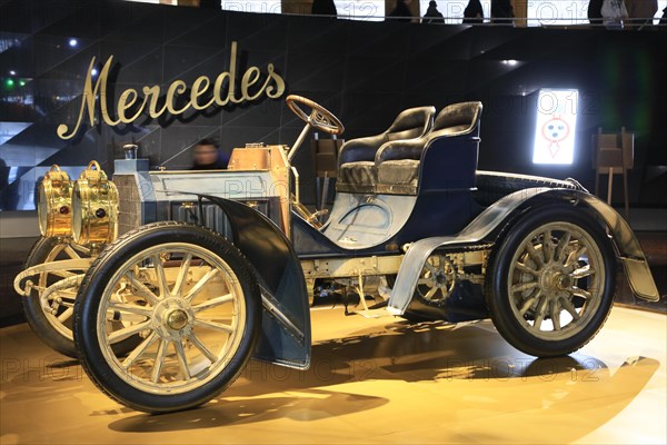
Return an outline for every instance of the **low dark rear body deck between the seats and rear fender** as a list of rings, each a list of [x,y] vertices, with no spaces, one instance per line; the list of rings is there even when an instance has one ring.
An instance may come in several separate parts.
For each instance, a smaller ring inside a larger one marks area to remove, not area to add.
[[[477,170],[477,191],[475,200],[484,206],[489,206],[498,199],[527,188],[548,187],[580,190],[575,181],[545,178],[541,176],[515,175],[497,171]]]

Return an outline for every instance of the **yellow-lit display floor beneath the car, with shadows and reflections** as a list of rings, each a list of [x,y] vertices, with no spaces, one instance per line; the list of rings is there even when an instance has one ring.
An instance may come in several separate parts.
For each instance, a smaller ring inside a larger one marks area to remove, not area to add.
[[[490,322],[312,312],[312,366],[252,362],[206,406],[161,416],[100,393],[27,325],[0,329],[0,443],[667,443],[661,314],[614,308],[580,352],[536,360]]]

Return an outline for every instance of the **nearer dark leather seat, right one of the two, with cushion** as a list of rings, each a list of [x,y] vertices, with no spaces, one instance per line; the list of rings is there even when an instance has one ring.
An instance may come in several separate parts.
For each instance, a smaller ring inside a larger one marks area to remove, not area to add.
[[[438,113],[432,130],[418,139],[385,144],[377,152],[375,166],[379,194],[417,194],[421,154],[435,139],[468,135],[478,126],[481,102],[447,106]]]

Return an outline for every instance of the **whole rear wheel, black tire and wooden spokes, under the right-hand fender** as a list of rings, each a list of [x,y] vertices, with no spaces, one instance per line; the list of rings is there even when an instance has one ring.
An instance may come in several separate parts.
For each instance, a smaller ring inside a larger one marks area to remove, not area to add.
[[[488,270],[494,324],[530,355],[551,357],[580,348],[611,308],[614,248],[581,209],[551,206],[525,215],[494,248]]]

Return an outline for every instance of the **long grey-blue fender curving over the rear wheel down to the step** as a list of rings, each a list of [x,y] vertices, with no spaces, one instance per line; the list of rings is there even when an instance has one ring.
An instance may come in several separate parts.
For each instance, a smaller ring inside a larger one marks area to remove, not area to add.
[[[659,300],[658,289],[648,267],[646,256],[630,226],[606,202],[580,190],[530,188],[510,194],[487,207],[464,230],[454,236],[420,239],[412,243],[400,265],[388,303],[388,310],[402,315],[415,293],[419,271],[434,250],[444,247],[465,247],[495,238],[495,235],[521,209],[552,202],[554,199],[583,205],[599,216],[608,228],[617,256],[621,260],[630,288],[637,297]]]

